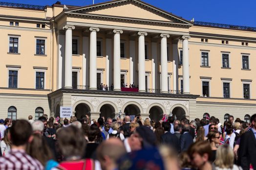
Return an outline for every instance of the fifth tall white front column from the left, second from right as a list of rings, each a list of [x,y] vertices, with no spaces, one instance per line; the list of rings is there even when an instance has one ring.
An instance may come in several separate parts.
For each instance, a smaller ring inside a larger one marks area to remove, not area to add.
[[[167,38],[169,34],[161,36],[161,93],[168,93],[168,68],[167,68]]]

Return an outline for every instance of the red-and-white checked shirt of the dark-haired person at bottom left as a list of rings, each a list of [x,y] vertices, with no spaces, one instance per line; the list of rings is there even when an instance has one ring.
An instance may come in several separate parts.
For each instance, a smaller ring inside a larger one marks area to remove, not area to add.
[[[24,150],[12,150],[0,157],[0,170],[43,170],[43,165]]]

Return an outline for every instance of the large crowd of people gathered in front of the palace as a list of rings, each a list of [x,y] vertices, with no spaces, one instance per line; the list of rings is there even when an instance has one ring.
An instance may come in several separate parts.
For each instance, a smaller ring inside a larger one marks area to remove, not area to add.
[[[0,170],[253,170],[251,123],[71,117],[0,119]]]

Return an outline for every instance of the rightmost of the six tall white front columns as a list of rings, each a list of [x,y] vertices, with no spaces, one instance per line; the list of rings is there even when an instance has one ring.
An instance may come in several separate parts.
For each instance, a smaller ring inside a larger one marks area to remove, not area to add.
[[[183,65],[183,93],[190,94],[190,68],[189,68],[189,38],[182,36],[182,65]]]

